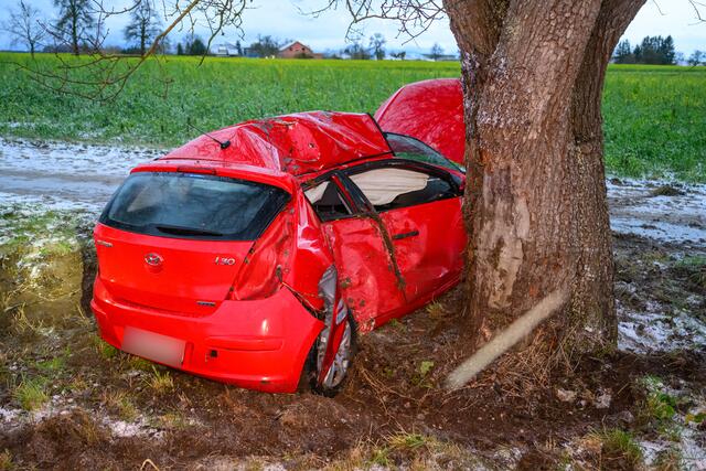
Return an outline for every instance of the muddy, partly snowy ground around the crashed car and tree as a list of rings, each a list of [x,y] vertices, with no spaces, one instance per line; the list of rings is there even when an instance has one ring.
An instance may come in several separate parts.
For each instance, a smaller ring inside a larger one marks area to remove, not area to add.
[[[706,189],[611,180],[619,349],[447,393],[453,290],[360,339],[335,398],[268,395],[117,352],[86,310],[89,231],[159,153],[0,139],[0,470],[706,469]],[[513,384],[514,383],[514,384]]]

